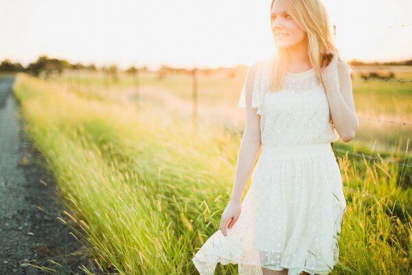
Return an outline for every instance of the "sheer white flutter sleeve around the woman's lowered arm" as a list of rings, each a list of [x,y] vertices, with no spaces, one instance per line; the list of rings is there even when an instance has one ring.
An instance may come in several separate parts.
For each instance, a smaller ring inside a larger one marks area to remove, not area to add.
[[[251,68],[252,66],[249,66],[249,69],[247,71],[247,77],[249,74],[251,74]],[[261,74],[262,74],[262,65],[258,61],[257,68],[255,71],[255,77],[253,78],[253,90],[252,90],[252,103],[251,107],[253,109],[256,109],[256,113],[259,115],[262,115],[262,85],[261,85]],[[242,87],[242,91],[240,91],[240,97],[238,100],[238,108],[240,109],[246,109],[246,79],[244,80],[244,84]]]

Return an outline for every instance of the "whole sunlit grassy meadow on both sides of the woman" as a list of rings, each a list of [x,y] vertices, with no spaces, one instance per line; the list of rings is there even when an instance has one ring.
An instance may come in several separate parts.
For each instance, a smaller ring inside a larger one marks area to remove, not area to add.
[[[71,209],[59,219],[82,229],[73,236],[103,272],[198,274],[191,259],[231,194],[245,74],[198,74],[196,128],[188,74],[142,72],[139,86],[124,74],[117,82],[91,72],[16,75],[25,131]],[[411,122],[412,83],[354,81],[354,100],[374,120],[360,119],[355,140],[333,144],[347,212],[332,274],[411,274],[412,126],[376,119]],[[218,265],[216,274],[237,267]]]

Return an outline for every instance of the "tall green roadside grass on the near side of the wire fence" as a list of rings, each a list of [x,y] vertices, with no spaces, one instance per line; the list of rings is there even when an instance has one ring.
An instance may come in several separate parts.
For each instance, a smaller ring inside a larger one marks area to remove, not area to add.
[[[240,135],[170,118],[162,108],[87,98],[19,74],[25,130],[45,155],[82,228],[79,241],[105,272],[197,274],[192,256],[218,230]],[[402,169],[339,157],[348,209],[334,274],[411,273],[411,188]],[[64,220],[64,219],[63,219]],[[85,268],[85,267],[84,267]],[[235,265],[217,274],[237,274]]]

